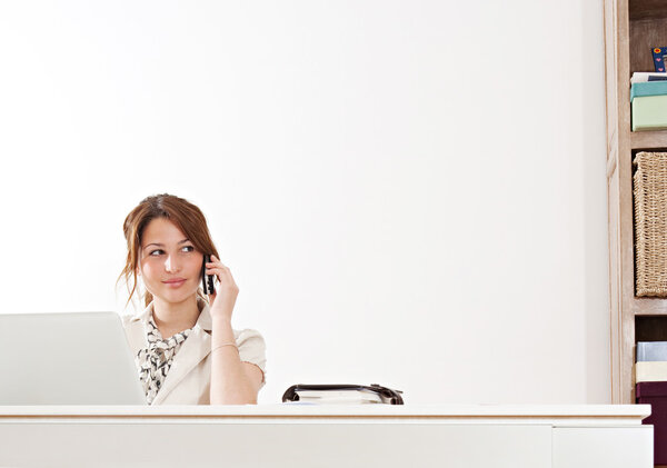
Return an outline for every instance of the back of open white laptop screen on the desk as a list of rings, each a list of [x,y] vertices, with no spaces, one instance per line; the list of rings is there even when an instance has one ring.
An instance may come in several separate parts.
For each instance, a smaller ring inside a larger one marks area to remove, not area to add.
[[[0,405],[147,405],[120,316],[0,315]]]

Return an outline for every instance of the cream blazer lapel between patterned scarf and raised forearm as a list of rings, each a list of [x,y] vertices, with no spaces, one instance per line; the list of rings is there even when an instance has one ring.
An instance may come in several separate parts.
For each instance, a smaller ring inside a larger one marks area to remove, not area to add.
[[[211,352],[211,337],[206,330],[211,329],[208,305],[203,305],[197,325],[175,356],[162,388],[156,395],[152,405],[160,405],[180,381]]]

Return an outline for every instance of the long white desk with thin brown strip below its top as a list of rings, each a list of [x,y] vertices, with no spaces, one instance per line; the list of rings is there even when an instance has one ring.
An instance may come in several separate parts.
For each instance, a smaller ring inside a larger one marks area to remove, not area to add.
[[[648,405],[2,407],[0,467],[649,468]]]

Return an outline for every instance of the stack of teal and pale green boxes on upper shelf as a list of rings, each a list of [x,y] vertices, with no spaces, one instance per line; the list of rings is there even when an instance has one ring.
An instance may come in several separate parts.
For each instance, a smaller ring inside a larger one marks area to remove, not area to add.
[[[633,131],[667,129],[667,73],[633,73],[630,102]]]

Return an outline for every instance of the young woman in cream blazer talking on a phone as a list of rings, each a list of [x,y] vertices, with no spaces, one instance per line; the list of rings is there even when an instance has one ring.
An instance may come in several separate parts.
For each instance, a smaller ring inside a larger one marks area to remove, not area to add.
[[[128,257],[120,278],[128,302],[138,293],[138,277],[146,288],[146,309],[123,317],[123,326],[148,404],[257,404],[265,341],[256,330],[231,328],[239,288],[218,258],[201,210],[171,195],[148,197],[128,215],[123,231]],[[218,282],[208,297],[199,288],[202,273]]]

